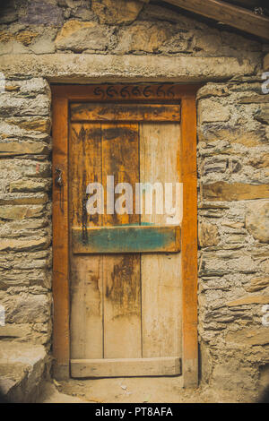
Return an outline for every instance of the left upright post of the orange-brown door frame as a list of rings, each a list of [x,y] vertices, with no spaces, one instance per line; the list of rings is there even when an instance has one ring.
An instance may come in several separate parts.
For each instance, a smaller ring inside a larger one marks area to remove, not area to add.
[[[60,168],[63,191],[53,184],[53,357],[57,378],[69,376],[68,101],[53,97],[53,176]]]

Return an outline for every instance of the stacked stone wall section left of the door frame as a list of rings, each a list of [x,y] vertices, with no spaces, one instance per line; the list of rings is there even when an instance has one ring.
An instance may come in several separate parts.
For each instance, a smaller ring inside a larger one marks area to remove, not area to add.
[[[51,332],[50,89],[6,80],[0,101],[0,336],[49,347]]]

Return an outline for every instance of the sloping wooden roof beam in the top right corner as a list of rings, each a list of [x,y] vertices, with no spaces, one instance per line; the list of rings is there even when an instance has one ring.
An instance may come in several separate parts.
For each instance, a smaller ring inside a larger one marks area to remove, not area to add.
[[[247,9],[220,0],[165,0],[190,12],[221,21],[263,39],[269,39],[269,19]]]

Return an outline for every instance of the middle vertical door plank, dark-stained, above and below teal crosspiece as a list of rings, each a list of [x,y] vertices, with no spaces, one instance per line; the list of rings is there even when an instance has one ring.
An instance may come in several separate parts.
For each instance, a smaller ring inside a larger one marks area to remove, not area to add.
[[[137,124],[102,125],[103,185],[114,176],[115,185],[139,180],[139,144]],[[106,194],[105,194],[106,196]],[[107,202],[107,196],[105,202]],[[103,226],[138,224],[139,215],[108,214]],[[104,357],[141,357],[140,256],[106,255],[103,264],[104,285]]]

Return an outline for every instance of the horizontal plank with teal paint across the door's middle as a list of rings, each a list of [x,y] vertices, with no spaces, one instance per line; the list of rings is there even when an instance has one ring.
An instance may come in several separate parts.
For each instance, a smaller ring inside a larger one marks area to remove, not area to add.
[[[121,226],[73,228],[73,253],[153,253],[178,252],[180,228],[174,226]]]

